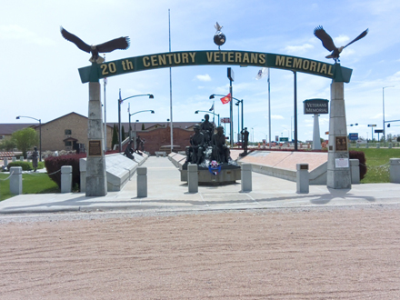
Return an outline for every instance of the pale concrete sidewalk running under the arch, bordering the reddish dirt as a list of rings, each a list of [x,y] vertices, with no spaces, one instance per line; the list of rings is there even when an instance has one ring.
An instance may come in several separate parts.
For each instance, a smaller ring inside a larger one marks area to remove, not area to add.
[[[168,212],[189,210],[229,210],[284,208],[326,205],[400,204],[399,184],[353,185],[350,190],[335,190],[325,185],[310,185],[309,194],[297,194],[295,182],[253,173],[253,191],[241,193],[235,185],[199,186],[189,194],[180,181],[179,170],[167,157],[150,156],[147,167],[148,196],[136,197],[134,176],[120,192],[103,197],[86,197],[85,193],[16,195],[0,202],[0,213],[49,213],[63,211]]]

